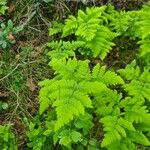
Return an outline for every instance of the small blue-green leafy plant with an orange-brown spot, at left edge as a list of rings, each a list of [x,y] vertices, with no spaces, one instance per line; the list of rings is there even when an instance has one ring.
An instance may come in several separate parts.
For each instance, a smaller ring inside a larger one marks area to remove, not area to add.
[[[13,22],[9,20],[7,25],[1,23],[0,28],[0,46],[5,49],[10,45],[14,44],[15,38],[13,34],[16,34],[22,30],[22,27],[14,27]],[[11,36],[11,37],[10,37]]]

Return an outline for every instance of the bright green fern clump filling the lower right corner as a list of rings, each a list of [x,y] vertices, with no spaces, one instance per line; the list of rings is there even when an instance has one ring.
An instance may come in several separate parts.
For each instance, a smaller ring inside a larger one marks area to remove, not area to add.
[[[134,143],[150,145],[144,135],[144,132],[148,132],[150,128],[150,113],[144,103],[145,100],[149,100],[150,75],[147,71],[140,74],[139,67],[134,69],[131,66],[119,70],[123,76],[131,80],[130,83],[123,84],[124,90],[128,92],[126,97],[122,98],[110,89],[98,93],[95,97],[96,113],[101,118],[100,122],[103,123],[105,131],[101,146],[107,149],[134,150],[136,149]],[[139,85],[132,84],[135,79],[140,80],[143,86],[146,85],[142,87],[143,92],[138,91]]]

